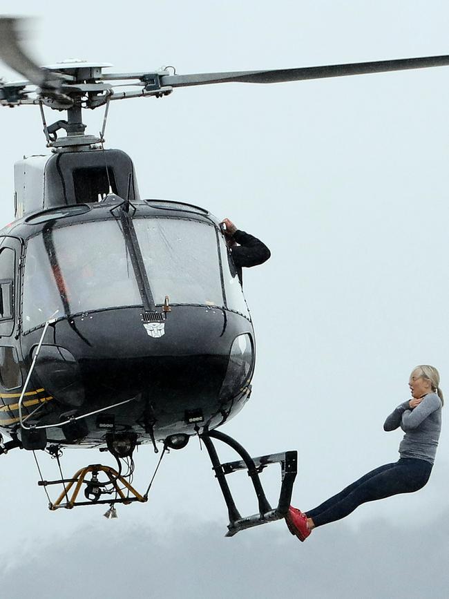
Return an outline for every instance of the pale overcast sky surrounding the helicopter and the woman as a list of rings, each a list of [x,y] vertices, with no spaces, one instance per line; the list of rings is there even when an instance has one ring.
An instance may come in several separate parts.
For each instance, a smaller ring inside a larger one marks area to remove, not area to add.
[[[39,17],[40,64],[78,57],[115,72],[169,64],[182,74],[449,54],[449,7],[436,0],[14,6]],[[437,366],[449,399],[448,100],[446,67],[111,104],[106,145],[131,155],[143,197],[229,216],[271,249],[268,263],[244,274],[254,390],[222,430],[252,455],[297,449],[294,504],[304,510],[397,459],[401,433],[382,425],[409,397],[415,365]],[[91,133],[102,115],[86,118]],[[36,108],[2,108],[0,119],[6,223],[13,163],[46,149]],[[442,598],[448,435],[443,428],[422,491],[362,506],[303,544],[283,522],[223,538],[225,504],[195,439],[166,458],[149,503],[119,506],[118,520],[99,506],[50,513],[32,455],[17,450],[0,457],[1,596]],[[55,476],[44,457],[46,477]],[[77,450],[64,458],[68,476],[107,459]],[[155,467],[150,447],[137,467],[142,489]],[[254,513],[248,478],[233,476],[240,511]],[[278,470],[265,480],[276,497]]]

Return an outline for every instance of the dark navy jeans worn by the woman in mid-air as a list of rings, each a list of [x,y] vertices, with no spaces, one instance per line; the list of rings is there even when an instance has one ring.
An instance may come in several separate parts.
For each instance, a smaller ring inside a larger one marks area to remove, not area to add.
[[[315,526],[340,520],[366,502],[418,491],[428,482],[431,472],[430,462],[401,457],[399,462],[379,466],[344,488],[338,495],[317,508],[308,510],[307,517],[312,518]]]

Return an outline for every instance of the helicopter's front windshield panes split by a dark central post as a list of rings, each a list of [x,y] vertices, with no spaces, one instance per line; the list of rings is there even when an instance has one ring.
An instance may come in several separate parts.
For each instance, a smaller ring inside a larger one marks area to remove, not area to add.
[[[32,224],[39,216],[27,220]],[[73,316],[142,305],[120,220],[75,220],[50,220],[58,224],[44,225],[26,242],[24,332],[43,325],[55,312]],[[227,305],[249,318],[225,242],[212,223],[137,214],[133,227],[156,306],[168,296],[171,305]]]

